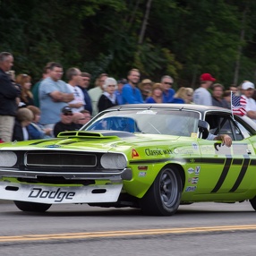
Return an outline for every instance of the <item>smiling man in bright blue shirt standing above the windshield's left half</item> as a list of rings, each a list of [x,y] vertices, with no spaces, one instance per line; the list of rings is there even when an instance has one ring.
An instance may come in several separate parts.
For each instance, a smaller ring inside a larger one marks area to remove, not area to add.
[[[138,69],[132,69],[128,73],[128,83],[124,84],[122,95],[123,104],[143,103],[141,90],[136,85],[140,81],[141,73]]]

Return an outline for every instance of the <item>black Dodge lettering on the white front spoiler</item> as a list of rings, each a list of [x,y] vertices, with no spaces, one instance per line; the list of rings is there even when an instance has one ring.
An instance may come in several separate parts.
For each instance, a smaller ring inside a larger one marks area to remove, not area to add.
[[[29,197],[31,198],[48,198],[55,199],[56,202],[66,200],[73,200],[75,192],[60,192],[58,188],[56,191],[43,191],[39,188],[34,188],[31,190]]]

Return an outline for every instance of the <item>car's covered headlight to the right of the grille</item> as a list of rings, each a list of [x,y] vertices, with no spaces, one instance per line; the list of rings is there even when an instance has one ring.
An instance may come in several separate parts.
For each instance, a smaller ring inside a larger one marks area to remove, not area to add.
[[[127,161],[124,155],[107,153],[100,158],[100,164],[105,169],[124,169]]]

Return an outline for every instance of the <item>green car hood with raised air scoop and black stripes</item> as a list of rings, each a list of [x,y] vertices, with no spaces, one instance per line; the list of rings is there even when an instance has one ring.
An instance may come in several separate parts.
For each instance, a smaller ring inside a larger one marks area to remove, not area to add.
[[[58,138],[37,141],[14,141],[0,144],[0,149],[12,150],[84,150],[107,152],[110,149],[125,151],[131,147],[152,145],[155,141],[176,141],[178,136],[162,134],[142,134],[131,132],[99,131],[99,132],[61,132]]]

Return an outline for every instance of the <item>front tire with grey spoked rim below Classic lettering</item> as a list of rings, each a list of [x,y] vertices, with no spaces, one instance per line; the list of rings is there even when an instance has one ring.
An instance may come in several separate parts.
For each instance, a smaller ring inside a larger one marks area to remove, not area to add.
[[[171,216],[178,209],[182,196],[182,180],[175,167],[163,168],[149,191],[141,199],[146,215]]]

